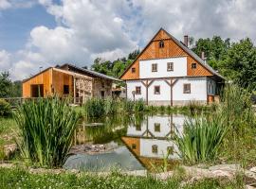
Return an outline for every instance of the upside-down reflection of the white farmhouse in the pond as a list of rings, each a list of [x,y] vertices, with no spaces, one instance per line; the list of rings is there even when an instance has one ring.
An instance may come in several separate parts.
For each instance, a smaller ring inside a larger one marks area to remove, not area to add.
[[[121,139],[140,163],[150,167],[151,163],[162,163],[168,151],[169,160],[178,159],[177,146],[172,139],[176,129],[182,132],[183,123],[182,115],[148,116],[140,125],[130,126],[127,136]]]

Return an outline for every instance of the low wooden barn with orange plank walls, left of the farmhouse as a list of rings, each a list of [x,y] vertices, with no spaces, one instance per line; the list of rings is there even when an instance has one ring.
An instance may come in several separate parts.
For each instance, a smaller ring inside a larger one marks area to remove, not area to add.
[[[120,81],[98,72],[71,64],[49,67],[23,81],[23,97],[46,97],[58,94],[75,97],[81,103],[86,98],[112,96],[113,81]]]

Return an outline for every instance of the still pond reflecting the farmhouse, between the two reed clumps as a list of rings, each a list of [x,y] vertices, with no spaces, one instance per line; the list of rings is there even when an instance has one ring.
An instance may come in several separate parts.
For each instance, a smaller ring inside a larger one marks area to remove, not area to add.
[[[185,115],[132,114],[82,120],[76,129],[66,169],[86,171],[153,170],[178,162],[174,132]]]

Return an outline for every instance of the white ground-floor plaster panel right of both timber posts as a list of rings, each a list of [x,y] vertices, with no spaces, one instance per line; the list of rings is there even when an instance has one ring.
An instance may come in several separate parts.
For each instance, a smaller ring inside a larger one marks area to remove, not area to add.
[[[183,94],[183,85],[191,83],[191,94]],[[206,77],[186,77],[178,78],[174,84],[173,100],[207,100],[207,78]]]

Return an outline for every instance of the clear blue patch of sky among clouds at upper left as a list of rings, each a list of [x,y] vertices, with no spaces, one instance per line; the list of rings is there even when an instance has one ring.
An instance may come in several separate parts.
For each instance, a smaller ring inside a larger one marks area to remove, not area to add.
[[[7,9],[0,12],[0,49],[15,52],[25,47],[35,26],[56,26],[54,16],[42,5],[29,9]]]

